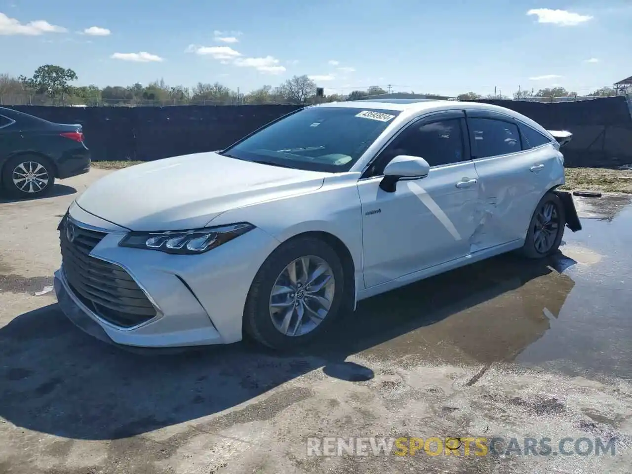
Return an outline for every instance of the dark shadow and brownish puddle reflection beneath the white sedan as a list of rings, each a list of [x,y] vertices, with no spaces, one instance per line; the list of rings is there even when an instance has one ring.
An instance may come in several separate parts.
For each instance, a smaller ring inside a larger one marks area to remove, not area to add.
[[[574,286],[554,263],[502,255],[375,296],[292,354],[247,340],[122,350],[83,334],[49,305],[0,328],[0,416],[71,439],[121,439],[212,414],[219,415],[213,426],[267,419],[310,391],[291,385],[271,400],[222,411],[313,370],[349,383],[372,379],[377,368],[361,360],[511,361],[549,329],[543,310],[557,316]]]

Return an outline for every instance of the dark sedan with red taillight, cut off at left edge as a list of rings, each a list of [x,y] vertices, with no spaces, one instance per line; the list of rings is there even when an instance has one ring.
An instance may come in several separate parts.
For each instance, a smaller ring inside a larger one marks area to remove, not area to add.
[[[0,192],[11,198],[44,196],[55,178],[90,170],[81,125],[52,123],[0,107]]]

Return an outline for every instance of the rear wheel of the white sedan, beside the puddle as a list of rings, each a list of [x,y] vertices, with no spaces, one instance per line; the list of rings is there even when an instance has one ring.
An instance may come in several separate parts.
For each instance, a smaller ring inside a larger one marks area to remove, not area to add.
[[[545,218],[545,210],[551,210],[551,218],[544,226],[544,234],[540,228],[542,219]],[[566,226],[566,214],[564,204],[554,193],[546,193],[533,211],[533,216],[529,222],[529,230],[526,233],[525,245],[522,254],[526,258],[544,258],[557,252],[564,236]],[[538,233],[539,231],[539,233]],[[544,236],[544,237],[538,237]],[[542,240],[544,239],[544,243]]]

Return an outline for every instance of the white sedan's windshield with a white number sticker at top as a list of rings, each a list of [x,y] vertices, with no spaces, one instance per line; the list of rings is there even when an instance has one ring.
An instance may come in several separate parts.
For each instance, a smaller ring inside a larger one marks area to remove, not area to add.
[[[310,107],[267,126],[222,155],[310,171],[348,171],[398,114]]]

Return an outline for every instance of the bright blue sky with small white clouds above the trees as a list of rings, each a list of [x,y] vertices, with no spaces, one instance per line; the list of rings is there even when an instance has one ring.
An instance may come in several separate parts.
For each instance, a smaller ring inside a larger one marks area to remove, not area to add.
[[[0,73],[58,64],[100,87],[164,78],[248,92],[307,74],[328,92],[587,94],[632,75],[630,32],[629,0],[0,0]]]

